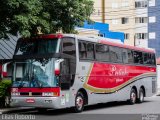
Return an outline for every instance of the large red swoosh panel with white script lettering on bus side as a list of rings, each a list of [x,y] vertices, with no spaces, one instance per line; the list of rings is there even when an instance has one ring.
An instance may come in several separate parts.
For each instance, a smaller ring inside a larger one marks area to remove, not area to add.
[[[144,73],[156,73],[156,68],[94,63],[87,84],[96,88],[114,88]]]

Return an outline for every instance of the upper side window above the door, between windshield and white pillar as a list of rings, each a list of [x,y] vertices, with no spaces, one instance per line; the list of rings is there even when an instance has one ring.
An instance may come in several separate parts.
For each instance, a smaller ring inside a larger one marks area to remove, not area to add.
[[[74,38],[62,39],[62,52],[71,56],[76,56],[76,46]]]

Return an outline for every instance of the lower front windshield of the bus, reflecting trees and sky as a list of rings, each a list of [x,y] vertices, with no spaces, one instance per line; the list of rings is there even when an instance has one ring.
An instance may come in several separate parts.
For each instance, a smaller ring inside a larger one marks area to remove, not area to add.
[[[14,63],[13,87],[56,87],[54,58]]]

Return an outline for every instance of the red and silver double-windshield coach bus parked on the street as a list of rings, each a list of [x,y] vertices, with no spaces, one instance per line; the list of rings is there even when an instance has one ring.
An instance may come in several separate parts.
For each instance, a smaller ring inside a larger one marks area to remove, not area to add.
[[[157,91],[155,51],[102,37],[48,34],[18,40],[11,106],[74,108],[142,103]]]

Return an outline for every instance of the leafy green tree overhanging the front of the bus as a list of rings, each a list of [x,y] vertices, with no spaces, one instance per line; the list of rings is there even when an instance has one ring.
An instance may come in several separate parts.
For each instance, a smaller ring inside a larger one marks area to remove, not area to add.
[[[75,26],[90,21],[92,0],[0,0],[0,38],[8,34],[34,36],[42,32],[73,33]]]

